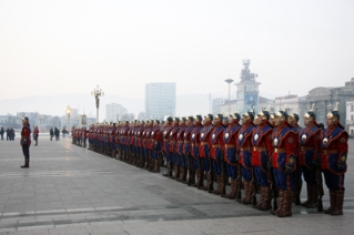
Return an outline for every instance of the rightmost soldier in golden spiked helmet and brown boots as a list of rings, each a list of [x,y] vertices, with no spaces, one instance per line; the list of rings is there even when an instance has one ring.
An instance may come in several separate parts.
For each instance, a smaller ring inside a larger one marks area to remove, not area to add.
[[[340,119],[340,112],[334,109],[327,114],[327,129],[322,132],[323,155],[321,168],[330,190],[331,201],[331,206],[324,213],[331,215],[343,215],[344,174],[347,170],[348,134],[341,125]]]

